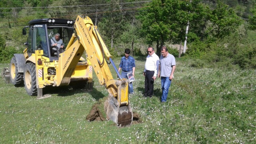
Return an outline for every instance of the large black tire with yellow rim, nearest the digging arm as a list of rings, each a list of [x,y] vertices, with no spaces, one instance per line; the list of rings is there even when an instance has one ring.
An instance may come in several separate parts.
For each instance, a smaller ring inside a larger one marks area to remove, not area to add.
[[[36,67],[33,63],[27,63],[24,68],[24,85],[30,96],[37,95]]]

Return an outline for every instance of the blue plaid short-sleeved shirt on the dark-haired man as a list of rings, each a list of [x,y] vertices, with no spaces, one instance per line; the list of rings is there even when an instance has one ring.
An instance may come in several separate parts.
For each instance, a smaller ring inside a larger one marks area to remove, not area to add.
[[[122,68],[122,71],[131,71],[135,67],[135,60],[133,57],[129,56],[127,59],[122,57],[119,67]]]

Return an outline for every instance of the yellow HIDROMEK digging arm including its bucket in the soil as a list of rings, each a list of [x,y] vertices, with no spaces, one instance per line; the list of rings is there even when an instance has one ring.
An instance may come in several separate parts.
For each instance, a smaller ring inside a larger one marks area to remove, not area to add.
[[[121,78],[97,26],[93,25],[89,17],[77,16],[74,28],[76,34],[72,35],[65,52],[59,55],[56,71],[61,75],[55,77],[55,85],[59,86],[70,81],[70,76],[85,50],[99,83],[104,85],[109,93],[104,103],[107,118],[116,122],[119,127],[130,125],[132,109],[128,99],[128,79]],[[105,58],[113,65],[119,80],[113,79]]]

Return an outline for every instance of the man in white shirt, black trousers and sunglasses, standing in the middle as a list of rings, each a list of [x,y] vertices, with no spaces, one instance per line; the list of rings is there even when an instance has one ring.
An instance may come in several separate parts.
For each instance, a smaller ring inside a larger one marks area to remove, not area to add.
[[[143,71],[143,76],[145,76],[144,97],[151,98],[154,92],[154,81],[156,80],[156,75],[159,68],[159,57],[156,55],[153,47],[148,47],[148,53],[149,55]]]

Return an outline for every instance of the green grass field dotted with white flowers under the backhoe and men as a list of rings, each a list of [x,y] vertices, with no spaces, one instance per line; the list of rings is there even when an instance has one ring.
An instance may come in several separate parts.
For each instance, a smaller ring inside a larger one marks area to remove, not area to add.
[[[0,143],[256,143],[256,70],[194,68],[192,60],[176,61],[167,102],[160,103],[159,78],[154,97],[142,97],[145,58],[136,58],[135,94],[129,99],[142,122],[126,128],[86,120],[91,107],[108,95],[95,76],[92,92],[47,88],[43,91],[52,97],[41,100],[1,79]],[[7,66],[0,64],[1,70]]]

